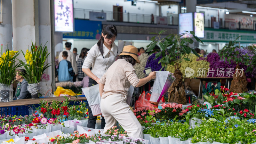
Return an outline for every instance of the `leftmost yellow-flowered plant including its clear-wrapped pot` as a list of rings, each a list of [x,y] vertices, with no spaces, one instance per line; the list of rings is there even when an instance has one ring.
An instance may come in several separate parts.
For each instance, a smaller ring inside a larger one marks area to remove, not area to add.
[[[1,45],[0,55],[0,102],[12,101],[13,90],[11,84],[16,76],[16,68],[21,66],[20,62],[16,62],[19,55],[18,51],[9,51],[8,47],[3,52],[3,44]]]

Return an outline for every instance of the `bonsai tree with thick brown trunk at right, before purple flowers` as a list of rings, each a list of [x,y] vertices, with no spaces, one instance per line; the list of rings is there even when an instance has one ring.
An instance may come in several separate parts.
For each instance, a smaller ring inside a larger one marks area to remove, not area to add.
[[[238,38],[239,37],[237,37],[236,40]],[[240,68],[239,64],[242,63],[244,65],[249,65],[250,56],[248,53],[244,55],[236,50],[241,49],[241,47],[237,45],[236,40],[229,41],[229,43],[223,47],[222,51],[220,51],[220,59],[228,61],[229,63],[234,62],[236,64],[229,91],[243,93],[247,91],[247,81],[245,72]]]

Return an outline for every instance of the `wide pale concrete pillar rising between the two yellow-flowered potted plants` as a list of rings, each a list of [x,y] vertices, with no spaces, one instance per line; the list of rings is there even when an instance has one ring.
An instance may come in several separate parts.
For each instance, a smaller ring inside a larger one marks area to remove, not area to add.
[[[12,1],[13,50],[26,52],[31,42],[39,44],[38,0]],[[25,60],[20,54],[18,59]]]

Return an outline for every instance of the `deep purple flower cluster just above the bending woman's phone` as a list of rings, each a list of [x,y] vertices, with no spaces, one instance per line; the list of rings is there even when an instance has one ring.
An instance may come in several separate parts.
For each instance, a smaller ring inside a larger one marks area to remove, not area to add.
[[[160,55],[156,60],[156,53],[153,53],[151,56],[148,57],[147,64],[145,68],[151,67],[152,71],[159,71],[162,68],[161,63],[158,64],[158,61],[162,59],[162,55]]]

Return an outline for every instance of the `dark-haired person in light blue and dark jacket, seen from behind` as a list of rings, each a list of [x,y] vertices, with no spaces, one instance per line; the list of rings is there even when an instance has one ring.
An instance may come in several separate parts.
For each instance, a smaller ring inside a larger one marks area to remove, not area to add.
[[[59,67],[56,70],[56,75],[58,75],[59,82],[73,81],[73,68],[71,62],[67,60],[68,52],[62,52],[63,60],[60,61]]]

